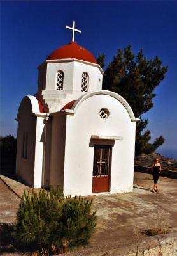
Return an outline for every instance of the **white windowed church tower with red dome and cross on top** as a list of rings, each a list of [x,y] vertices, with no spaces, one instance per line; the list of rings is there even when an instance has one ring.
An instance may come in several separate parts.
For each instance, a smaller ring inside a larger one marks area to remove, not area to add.
[[[53,51],[39,67],[38,97],[47,104],[49,112],[60,111],[81,95],[102,89],[103,69],[87,49],[72,41]]]

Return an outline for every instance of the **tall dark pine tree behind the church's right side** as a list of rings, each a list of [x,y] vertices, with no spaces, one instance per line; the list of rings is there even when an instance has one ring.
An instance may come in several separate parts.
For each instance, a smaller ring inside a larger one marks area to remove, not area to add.
[[[99,54],[98,63],[103,65],[104,54]],[[103,89],[120,94],[130,104],[134,115],[141,120],[136,127],[136,155],[152,153],[164,143],[160,136],[153,143],[150,141],[150,131],[144,129],[148,120],[143,120],[141,115],[153,107],[153,90],[165,77],[167,67],[162,67],[159,57],[147,60],[143,51],[137,55],[132,53],[131,45],[124,51],[118,49],[117,56],[108,65],[103,76]]]

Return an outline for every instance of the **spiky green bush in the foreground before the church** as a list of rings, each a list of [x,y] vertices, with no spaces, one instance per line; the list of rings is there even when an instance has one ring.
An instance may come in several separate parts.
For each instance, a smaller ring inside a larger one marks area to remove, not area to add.
[[[96,226],[92,200],[64,198],[60,186],[39,195],[22,196],[12,236],[18,248],[38,251],[40,255],[66,252],[67,248],[88,244]],[[16,246],[17,247],[17,246]]]

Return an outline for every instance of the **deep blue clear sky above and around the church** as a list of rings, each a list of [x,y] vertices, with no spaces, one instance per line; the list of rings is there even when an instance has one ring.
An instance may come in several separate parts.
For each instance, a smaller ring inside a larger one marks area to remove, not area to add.
[[[177,150],[177,1],[1,1],[1,131],[17,136],[15,121],[22,97],[37,90],[37,67],[48,54],[71,41],[65,28],[76,21],[76,42],[97,57],[113,60],[118,48],[132,45],[168,65],[155,90],[149,119],[152,140]]]

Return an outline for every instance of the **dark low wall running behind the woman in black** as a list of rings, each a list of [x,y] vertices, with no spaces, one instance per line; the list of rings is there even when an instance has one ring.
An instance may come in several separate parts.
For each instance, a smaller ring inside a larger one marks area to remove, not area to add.
[[[143,173],[152,174],[151,168],[146,167],[146,166],[135,165],[134,166],[134,171],[135,172],[143,172]],[[160,176],[167,177],[167,178],[172,178],[172,179],[177,179],[177,172],[162,169],[162,172],[160,172]]]

